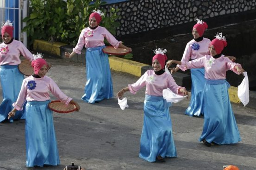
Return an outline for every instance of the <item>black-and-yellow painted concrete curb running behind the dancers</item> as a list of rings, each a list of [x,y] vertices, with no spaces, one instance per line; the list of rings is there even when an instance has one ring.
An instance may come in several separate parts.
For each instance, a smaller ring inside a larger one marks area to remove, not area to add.
[[[52,56],[58,56],[61,58],[64,58],[65,52],[71,53],[72,48],[73,48],[72,46],[67,44],[58,43],[58,42],[51,44],[44,40],[35,40],[33,44],[33,49],[35,51],[44,52]],[[85,50],[82,50],[82,54],[77,55],[69,60],[76,63],[85,64]],[[150,65],[131,61],[131,60],[126,60],[116,56],[110,56],[109,62],[110,62],[111,70],[122,73],[122,74],[134,75],[137,77],[141,77],[141,75],[143,75],[146,72],[146,70],[152,69]],[[173,78],[178,85],[186,87],[187,89],[191,88],[191,77],[189,75],[177,72],[176,74],[173,74]],[[229,98],[232,103],[242,105],[241,101],[238,98],[237,90],[238,90],[237,87],[231,86],[228,89]],[[256,92],[250,91],[250,102],[246,105],[246,107],[256,109],[255,103],[256,103]]]

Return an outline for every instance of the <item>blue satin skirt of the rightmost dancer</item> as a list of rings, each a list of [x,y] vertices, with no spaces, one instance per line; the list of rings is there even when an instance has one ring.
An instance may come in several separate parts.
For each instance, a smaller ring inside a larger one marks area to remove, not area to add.
[[[236,119],[228,96],[229,83],[225,80],[206,80],[204,86],[204,123],[199,141],[219,145],[241,141]]]

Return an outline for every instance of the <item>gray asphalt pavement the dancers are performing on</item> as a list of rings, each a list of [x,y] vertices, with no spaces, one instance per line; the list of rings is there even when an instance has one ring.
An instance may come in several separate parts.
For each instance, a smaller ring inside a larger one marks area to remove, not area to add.
[[[203,118],[184,115],[189,100],[173,104],[170,115],[178,157],[167,158],[166,163],[149,163],[138,156],[145,89],[136,95],[125,94],[129,108],[124,111],[117,99],[88,104],[81,100],[86,82],[85,66],[62,59],[46,59],[52,64],[47,75],[81,106],[80,112],[54,113],[61,164],[26,168],[25,120],[17,120],[0,123],[0,170],[63,170],[71,162],[86,170],[222,170],[226,164],[236,165],[240,170],[256,169],[255,110],[233,104],[242,141],[209,148],[198,141]],[[112,79],[116,94],[138,78],[112,72]]]

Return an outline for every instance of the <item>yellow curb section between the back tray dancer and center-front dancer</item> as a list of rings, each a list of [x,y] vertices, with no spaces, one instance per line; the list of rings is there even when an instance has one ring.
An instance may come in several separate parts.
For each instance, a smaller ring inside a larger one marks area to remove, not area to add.
[[[141,68],[143,66],[148,66],[147,64],[126,60],[115,56],[109,57],[109,64],[111,70],[129,73],[137,77],[141,77]]]

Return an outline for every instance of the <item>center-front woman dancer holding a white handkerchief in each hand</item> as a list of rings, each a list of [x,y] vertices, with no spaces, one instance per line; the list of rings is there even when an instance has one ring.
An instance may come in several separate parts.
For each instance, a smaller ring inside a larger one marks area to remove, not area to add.
[[[170,88],[176,94],[188,94],[185,88],[178,86],[172,76],[163,70],[167,60],[165,52],[166,50],[156,49],[156,55],[152,59],[154,70],[147,70],[136,83],[129,84],[117,93],[117,98],[120,98],[126,91],[136,94],[146,86],[139,156],[148,162],[156,159],[165,162],[164,157],[177,156],[169,112],[171,103],[163,99],[163,89]]]

